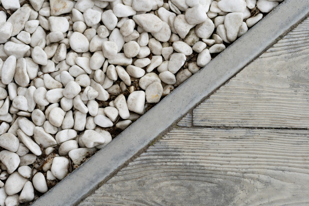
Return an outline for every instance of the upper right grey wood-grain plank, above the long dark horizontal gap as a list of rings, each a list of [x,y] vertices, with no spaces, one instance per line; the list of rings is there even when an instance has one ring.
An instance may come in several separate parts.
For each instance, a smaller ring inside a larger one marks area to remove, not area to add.
[[[193,110],[195,126],[309,128],[309,20]]]

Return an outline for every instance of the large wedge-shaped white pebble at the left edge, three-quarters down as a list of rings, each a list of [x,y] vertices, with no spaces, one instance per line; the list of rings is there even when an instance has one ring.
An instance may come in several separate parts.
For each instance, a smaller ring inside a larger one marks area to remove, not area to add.
[[[0,161],[6,166],[7,172],[11,174],[17,169],[20,159],[16,153],[2,150],[0,152]]]

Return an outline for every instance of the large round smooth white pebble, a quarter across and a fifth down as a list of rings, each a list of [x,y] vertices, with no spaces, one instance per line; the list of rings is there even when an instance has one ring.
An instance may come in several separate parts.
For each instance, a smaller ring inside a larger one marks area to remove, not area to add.
[[[89,51],[89,41],[86,36],[79,32],[73,32],[69,39],[70,47],[75,52]]]

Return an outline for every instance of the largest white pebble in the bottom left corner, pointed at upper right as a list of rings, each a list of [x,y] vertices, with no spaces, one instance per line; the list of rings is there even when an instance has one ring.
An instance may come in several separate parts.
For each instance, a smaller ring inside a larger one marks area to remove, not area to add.
[[[7,195],[14,195],[23,189],[23,186],[28,181],[27,178],[21,176],[17,171],[13,172],[7,179],[4,185]]]

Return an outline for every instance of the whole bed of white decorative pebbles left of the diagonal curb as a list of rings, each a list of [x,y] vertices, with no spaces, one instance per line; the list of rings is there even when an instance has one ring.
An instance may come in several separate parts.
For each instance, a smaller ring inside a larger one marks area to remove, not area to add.
[[[281,1],[1,0],[0,206],[47,192]]]

